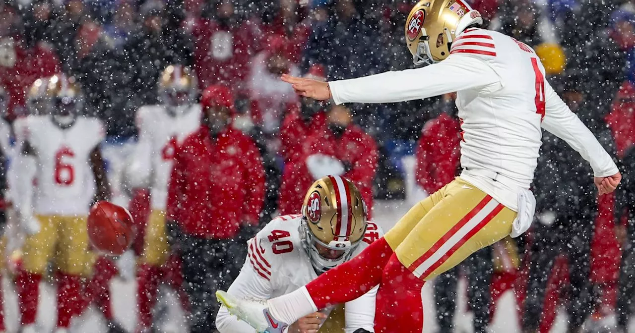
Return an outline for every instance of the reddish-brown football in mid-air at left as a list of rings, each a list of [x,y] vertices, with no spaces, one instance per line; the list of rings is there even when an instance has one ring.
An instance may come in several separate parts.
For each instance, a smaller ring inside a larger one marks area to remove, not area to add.
[[[88,238],[95,250],[110,256],[119,256],[130,247],[135,232],[128,209],[103,200],[90,208]]]

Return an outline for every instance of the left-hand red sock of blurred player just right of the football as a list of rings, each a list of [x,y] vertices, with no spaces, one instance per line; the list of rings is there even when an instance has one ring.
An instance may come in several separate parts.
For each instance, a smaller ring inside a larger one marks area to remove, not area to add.
[[[159,291],[159,275],[161,269],[149,264],[143,264],[137,272],[137,308],[139,313],[139,325],[150,327],[152,325],[152,308]]]

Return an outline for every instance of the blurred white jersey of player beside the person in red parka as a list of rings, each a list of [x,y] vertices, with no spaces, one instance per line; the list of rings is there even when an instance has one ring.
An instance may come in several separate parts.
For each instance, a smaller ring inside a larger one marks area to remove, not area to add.
[[[192,105],[182,115],[170,115],[161,105],[147,105],[137,111],[139,140],[130,169],[133,186],[150,186],[152,209],[164,211],[168,180],[178,145],[201,124],[201,106]]]

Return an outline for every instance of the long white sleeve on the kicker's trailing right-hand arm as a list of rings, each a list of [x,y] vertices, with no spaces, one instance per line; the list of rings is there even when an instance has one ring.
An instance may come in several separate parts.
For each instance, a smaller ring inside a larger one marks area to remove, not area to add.
[[[566,103],[545,82],[545,118],[542,128],[565,140],[582,158],[587,160],[593,168],[596,177],[606,177],[616,174],[618,169],[611,156],[599,143],[598,139],[573,114]]]

